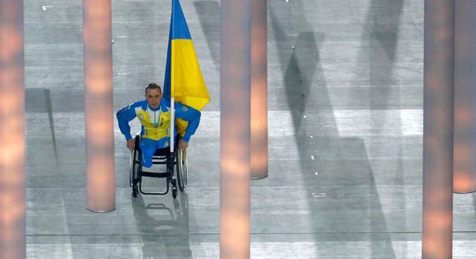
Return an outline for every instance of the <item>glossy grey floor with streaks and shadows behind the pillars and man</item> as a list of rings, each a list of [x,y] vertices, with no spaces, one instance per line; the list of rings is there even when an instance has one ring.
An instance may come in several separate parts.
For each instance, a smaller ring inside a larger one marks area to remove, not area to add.
[[[181,5],[211,94],[186,193],[132,198],[116,125],[117,208],[97,214],[86,209],[82,1],[24,1],[28,258],[218,258],[220,3]],[[268,0],[269,177],[251,182],[251,258],[421,257],[423,10]],[[113,0],[112,22],[119,109],[163,83],[170,1]],[[455,258],[476,257],[475,205],[454,195]]]

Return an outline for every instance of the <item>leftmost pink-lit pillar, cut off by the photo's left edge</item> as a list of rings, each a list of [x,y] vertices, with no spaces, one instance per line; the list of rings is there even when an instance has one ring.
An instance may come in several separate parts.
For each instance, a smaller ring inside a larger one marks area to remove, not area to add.
[[[0,258],[26,258],[23,1],[0,0]]]

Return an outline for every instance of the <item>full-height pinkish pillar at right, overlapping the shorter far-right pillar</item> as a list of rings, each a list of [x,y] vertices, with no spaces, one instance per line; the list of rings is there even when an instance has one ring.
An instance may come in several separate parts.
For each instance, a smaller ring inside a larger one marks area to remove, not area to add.
[[[454,0],[424,8],[422,258],[452,258]]]

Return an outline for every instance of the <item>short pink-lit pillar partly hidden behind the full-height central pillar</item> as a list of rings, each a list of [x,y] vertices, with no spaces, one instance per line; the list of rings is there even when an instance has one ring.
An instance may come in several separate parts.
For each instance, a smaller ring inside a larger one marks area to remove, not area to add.
[[[251,0],[251,179],[268,176],[267,0]]]

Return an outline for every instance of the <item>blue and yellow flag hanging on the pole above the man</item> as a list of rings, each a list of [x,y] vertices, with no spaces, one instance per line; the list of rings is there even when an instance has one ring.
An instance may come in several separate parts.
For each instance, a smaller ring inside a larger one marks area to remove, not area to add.
[[[174,97],[176,102],[197,110],[202,110],[210,101],[179,0],[172,0],[163,88],[164,98]]]

